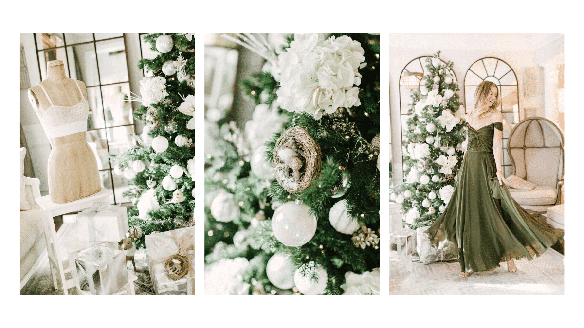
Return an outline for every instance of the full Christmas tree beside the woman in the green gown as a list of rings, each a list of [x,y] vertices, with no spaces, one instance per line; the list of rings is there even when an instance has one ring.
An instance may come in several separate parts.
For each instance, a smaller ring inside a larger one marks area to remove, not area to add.
[[[409,172],[391,194],[412,229],[430,225],[446,208],[465,147],[465,111],[450,73],[453,63],[444,63],[440,51],[426,62],[427,74],[423,86],[412,92],[404,129],[409,142],[404,169]]]

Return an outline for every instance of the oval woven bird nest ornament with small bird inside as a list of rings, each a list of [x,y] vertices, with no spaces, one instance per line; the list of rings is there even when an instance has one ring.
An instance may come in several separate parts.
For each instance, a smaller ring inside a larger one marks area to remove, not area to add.
[[[276,180],[288,192],[300,193],[320,175],[321,155],[321,148],[304,128],[288,128],[274,146]]]

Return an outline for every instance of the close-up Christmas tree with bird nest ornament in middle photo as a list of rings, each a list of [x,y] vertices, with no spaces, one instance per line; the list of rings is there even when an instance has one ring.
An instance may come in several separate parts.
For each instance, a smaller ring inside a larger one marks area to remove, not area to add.
[[[378,36],[238,36],[266,65],[208,136],[206,294],[378,294]]]

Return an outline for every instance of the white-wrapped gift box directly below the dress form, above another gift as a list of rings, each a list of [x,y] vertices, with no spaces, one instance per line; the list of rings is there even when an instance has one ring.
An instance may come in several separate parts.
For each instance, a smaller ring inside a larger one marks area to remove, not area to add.
[[[126,207],[93,203],[77,214],[75,225],[80,240],[92,242],[119,242],[128,232]]]

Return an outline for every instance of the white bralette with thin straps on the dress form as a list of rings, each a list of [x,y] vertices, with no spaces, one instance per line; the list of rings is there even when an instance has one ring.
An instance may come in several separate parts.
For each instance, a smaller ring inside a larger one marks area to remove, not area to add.
[[[47,90],[39,83],[48,101],[51,103],[51,106],[48,107],[44,115],[42,117],[39,116],[40,124],[43,125],[44,132],[48,138],[57,138],[87,131],[89,103],[83,96],[77,80],[75,80],[75,83],[77,83],[79,94],[81,94],[81,101],[73,106],[58,106],[53,104],[51,97],[48,96]]]

